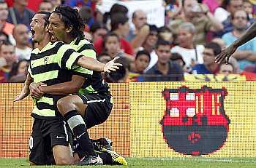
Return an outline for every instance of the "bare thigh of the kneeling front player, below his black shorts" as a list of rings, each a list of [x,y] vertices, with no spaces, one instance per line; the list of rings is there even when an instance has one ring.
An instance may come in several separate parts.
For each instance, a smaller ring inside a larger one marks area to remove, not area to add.
[[[72,156],[71,145],[54,145],[53,156],[57,165],[72,165],[74,158]]]

